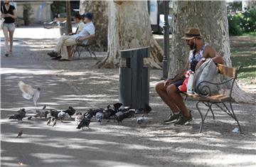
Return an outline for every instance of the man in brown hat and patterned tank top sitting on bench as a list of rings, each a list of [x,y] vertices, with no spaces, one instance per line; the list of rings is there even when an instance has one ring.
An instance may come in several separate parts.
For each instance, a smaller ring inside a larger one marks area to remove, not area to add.
[[[184,70],[192,70],[195,72],[207,58],[212,58],[214,63],[223,63],[222,57],[216,53],[215,49],[207,43],[203,43],[198,28],[186,28],[183,39],[186,40],[186,44],[191,49]],[[175,122],[175,126],[181,126],[193,121],[193,117],[188,111],[178,90],[178,87],[183,84],[184,80],[184,72],[181,72],[179,75],[176,75],[176,77],[162,80],[155,85],[156,92],[169,106],[171,112],[173,112],[170,114],[169,118],[164,121],[166,124]]]

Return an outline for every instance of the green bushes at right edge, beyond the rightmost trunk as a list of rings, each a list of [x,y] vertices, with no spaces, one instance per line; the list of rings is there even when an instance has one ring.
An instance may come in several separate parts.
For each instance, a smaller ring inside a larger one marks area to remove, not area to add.
[[[240,36],[242,33],[256,31],[256,9],[228,14],[228,28],[231,36]]]

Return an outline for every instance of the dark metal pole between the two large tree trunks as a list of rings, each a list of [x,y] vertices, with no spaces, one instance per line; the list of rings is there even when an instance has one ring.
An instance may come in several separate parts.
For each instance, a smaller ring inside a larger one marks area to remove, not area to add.
[[[168,61],[169,61],[169,1],[164,1],[164,58],[163,58],[163,77],[168,77]]]

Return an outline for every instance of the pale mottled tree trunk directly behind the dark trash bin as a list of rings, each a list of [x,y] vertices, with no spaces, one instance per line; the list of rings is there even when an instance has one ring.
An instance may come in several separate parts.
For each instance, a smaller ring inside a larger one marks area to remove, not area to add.
[[[97,63],[99,68],[117,68],[121,64],[120,50],[151,46],[150,58],[144,63],[161,68],[163,50],[156,43],[149,21],[147,1],[109,1],[107,58]]]

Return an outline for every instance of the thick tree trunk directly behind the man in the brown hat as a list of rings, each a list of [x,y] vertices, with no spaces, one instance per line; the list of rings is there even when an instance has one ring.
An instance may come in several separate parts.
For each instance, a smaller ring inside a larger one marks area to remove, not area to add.
[[[174,1],[174,31],[171,43],[169,77],[174,77],[188,60],[189,48],[182,36],[187,27],[198,27],[203,40],[223,56],[231,66],[228,18],[225,1]],[[233,97],[237,102],[252,102],[252,97],[235,85]]]

